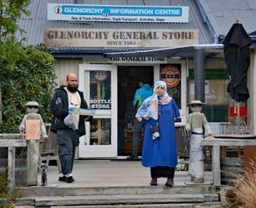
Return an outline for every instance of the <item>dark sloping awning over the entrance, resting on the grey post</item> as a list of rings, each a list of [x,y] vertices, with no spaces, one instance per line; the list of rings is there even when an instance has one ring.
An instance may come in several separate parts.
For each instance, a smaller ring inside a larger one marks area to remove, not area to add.
[[[218,53],[223,53],[223,44],[208,44],[208,45],[184,45],[174,48],[161,48],[154,50],[138,50],[131,52],[105,53],[106,58],[113,57],[178,57],[178,58],[193,58],[196,49],[204,49],[205,57],[213,57]]]

